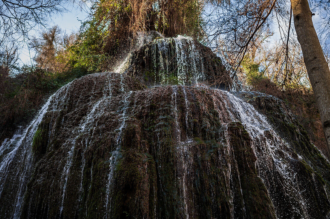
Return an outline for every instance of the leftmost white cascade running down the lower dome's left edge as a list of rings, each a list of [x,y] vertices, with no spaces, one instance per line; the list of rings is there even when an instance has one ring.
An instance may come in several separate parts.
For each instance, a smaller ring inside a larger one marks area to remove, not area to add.
[[[5,188],[5,183],[16,182],[17,191],[12,191],[15,195],[15,206],[13,206],[12,218],[18,218],[20,214],[20,207],[24,199],[24,193],[26,189],[26,183],[31,174],[31,167],[33,162],[32,155],[32,141],[35,132],[37,131],[38,125],[44,118],[44,115],[49,110],[56,110],[59,107],[61,100],[66,98],[65,96],[60,96],[63,91],[66,91],[70,84],[63,86],[56,93],[51,95],[43,107],[39,110],[38,114],[34,120],[27,126],[23,131],[23,134],[15,134],[12,139],[6,139],[0,150],[0,198]],[[55,101],[52,107],[50,103]],[[15,170],[15,172],[11,172]],[[15,174],[16,176],[9,176],[10,174]]]

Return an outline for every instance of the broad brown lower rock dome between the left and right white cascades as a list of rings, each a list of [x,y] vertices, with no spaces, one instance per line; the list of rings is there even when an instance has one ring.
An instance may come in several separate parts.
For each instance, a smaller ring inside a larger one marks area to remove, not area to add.
[[[133,82],[90,75],[62,91],[59,111],[49,106],[22,217],[275,218],[225,93]],[[104,95],[107,85],[118,93]]]

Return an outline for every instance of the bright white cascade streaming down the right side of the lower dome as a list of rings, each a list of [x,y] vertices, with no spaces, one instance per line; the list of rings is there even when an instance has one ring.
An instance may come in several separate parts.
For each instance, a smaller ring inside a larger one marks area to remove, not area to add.
[[[305,206],[306,203],[300,195],[301,191],[297,185],[295,173],[286,163],[286,160],[293,159],[287,152],[289,146],[274,131],[266,118],[258,113],[252,105],[244,102],[233,94],[226,93],[226,95],[229,100],[228,105],[231,106],[228,108],[228,111],[231,112],[231,119],[241,122],[253,140],[252,146],[257,156],[256,164],[260,177],[264,181],[270,180],[268,178],[270,169],[276,168],[277,173],[283,179],[282,184],[277,186],[282,186],[283,190],[287,192],[284,195],[291,196],[291,198],[295,196],[292,200],[298,202],[292,203],[296,205],[293,210],[301,218],[308,218]],[[272,197],[273,190],[276,190],[276,188],[268,187],[268,190],[271,194],[271,198],[276,200],[275,197]]]

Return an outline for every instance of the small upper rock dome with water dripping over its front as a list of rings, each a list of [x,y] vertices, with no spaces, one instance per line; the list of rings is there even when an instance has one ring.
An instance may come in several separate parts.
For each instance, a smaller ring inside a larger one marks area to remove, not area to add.
[[[147,86],[204,83],[232,87],[229,72],[210,48],[190,38],[162,38],[143,44],[126,59],[121,72]]]

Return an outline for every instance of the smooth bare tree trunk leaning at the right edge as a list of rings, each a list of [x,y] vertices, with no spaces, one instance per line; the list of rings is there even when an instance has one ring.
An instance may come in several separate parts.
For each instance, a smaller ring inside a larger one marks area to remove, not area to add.
[[[330,71],[312,22],[307,0],[290,0],[294,26],[320,113],[330,160]]]

